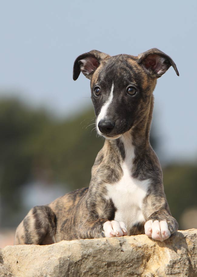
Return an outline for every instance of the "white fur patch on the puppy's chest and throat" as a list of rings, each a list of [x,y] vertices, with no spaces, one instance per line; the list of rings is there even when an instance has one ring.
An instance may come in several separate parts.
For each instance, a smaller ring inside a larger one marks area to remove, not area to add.
[[[126,152],[125,161],[122,164],[123,176],[116,184],[106,184],[108,194],[115,207],[116,221],[123,221],[127,230],[134,224],[145,222],[142,214],[142,200],[147,194],[150,180],[139,181],[132,177],[132,149]]]

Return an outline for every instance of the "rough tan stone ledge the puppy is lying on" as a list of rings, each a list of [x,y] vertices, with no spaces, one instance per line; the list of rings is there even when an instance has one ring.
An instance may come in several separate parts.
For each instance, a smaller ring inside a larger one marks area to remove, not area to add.
[[[165,242],[146,235],[0,249],[0,277],[197,276],[197,229]]]

